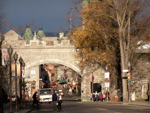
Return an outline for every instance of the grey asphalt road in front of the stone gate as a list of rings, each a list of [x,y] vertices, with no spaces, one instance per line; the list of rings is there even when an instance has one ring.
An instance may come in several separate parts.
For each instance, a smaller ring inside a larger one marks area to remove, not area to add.
[[[52,113],[52,103],[43,103],[34,106],[31,113]],[[64,101],[62,112],[65,113],[150,113],[150,107],[112,104],[107,102],[75,102]]]

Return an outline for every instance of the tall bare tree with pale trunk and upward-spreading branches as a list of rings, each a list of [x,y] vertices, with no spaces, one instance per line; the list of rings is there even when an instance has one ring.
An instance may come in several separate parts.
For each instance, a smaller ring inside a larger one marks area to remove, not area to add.
[[[119,45],[121,55],[121,70],[128,69],[128,62],[131,59],[131,41],[136,35],[131,35],[132,31],[142,31],[137,27],[133,27],[134,22],[140,22],[140,16],[143,8],[149,5],[150,1],[146,0],[105,0],[104,4],[114,11],[114,15],[109,15],[118,23]],[[144,10],[144,9],[143,9]],[[140,13],[138,13],[140,12]],[[144,12],[143,12],[144,14]],[[137,20],[135,17],[138,17]],[[147,21],[149,19],[146,19]],[[141,23],[140,23],[141,24]],[[131,27],[132,26],[132,27]],[[131,29],[132,28],[132,29]],[[133,29],[134,28],[134,29]],[[139,33],[139,32],[138,32]],[[133,46],[133,45],[132,45]],[[122,77],[125,77],[126,73],[121,71]],[[123,84],[123,100],[127,100],[127,85],[126,80],[122,79]]]

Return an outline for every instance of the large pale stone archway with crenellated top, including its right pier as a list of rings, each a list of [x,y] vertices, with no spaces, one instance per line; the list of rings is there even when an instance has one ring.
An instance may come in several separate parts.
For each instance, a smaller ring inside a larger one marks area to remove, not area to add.
[[[62,36],[61,36],[62,37]],[[39,65],[45,63],[57,63],[67,66],[73,69],[75,72],[80,74],[81,77],[81,98],[82,101],[90,100],[91,84],[89,81],[89,75],[91,74],[89,69],[86,68],[81,74],[81,70],[78,67],[78,59],[76,57],[76,50],[74,45],[64,38],[58,41],[58,37],[43,37],[43,41],[39,41],[34,36],[33,40],[29,43],[23,40],[15,31],[10,30],[4,34],[4,40],[2,42],[2,49],[8,49],[11,45],[13,48],[13,54],[17,52],[18,57],[23,58],[26,66],[26,70],[29,70],[29,75],[31,71],[35,71],[34,77],[26,78],[25,81],[32,82],[36,84],[36,90],[39,88]],[[19,59],[18,58],[18,59]],[[7,59],[8,55],[7,55]],[[13,58],[12,58],[13,59]],[[19,60],[17,61],[19,63]],[[94,75],[95,73],[95,75]],[[95,79],[94,83],[101,83],[104,87],[104,70],[100,69],[95,71],[93,75],[98,78]],[[101,77],[99,77],[101,76]]]

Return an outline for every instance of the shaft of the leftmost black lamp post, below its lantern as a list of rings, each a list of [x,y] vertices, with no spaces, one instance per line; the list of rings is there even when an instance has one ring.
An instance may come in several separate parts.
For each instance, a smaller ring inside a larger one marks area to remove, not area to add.
[[[10,99],[10,109],[9,109],[9,113],[13,113],[12,111],[12,83],[11,83],[11,80],[12,80],[12,73],[11,73],[11,55],[9,55],[9,59],[10,59],[10,68],[9,68],[9,74],[10,74],[10,79],[9,79],[9,99]]]

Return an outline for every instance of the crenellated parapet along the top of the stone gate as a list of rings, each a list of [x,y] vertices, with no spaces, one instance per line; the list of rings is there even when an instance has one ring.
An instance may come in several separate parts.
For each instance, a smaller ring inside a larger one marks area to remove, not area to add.
[[[67,37],[63,37],[62,34],[61,39],[58,40],[58,37],[43,37],[42,40],[39,40],[34,33],[33,39],[30,41],[26,41],[15,31],[10,30],[4,35],[4,45],[12,45],[14,48],[63,48],[63,47],[74,47],[71,44],[70,40]]]

